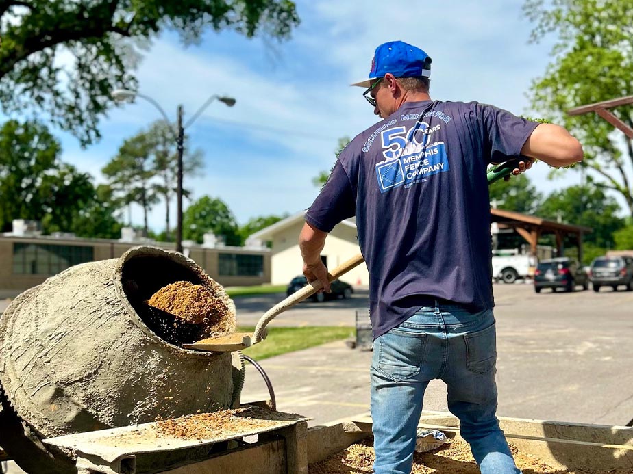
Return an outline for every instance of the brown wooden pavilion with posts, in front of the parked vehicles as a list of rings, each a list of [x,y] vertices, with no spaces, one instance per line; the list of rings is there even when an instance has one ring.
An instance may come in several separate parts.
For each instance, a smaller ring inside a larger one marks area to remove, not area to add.
[[[504,209],[491,209],[491,222],[497,222],[499,228],[512,228],[530,244],[530,253],[536,255],[536,245],[541,235],[556,236],[556,254],[562,255],[564,237],[573,235],[578,242],[578,260],[582,261],[582,235],[593,232],[593,228],[562,224],[554,220],[537,218]]]

